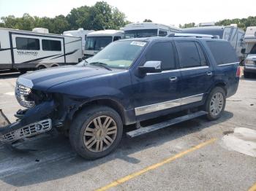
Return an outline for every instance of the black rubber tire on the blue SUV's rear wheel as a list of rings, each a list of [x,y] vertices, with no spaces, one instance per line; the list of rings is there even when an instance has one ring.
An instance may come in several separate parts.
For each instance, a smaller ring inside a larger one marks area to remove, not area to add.
[[[217,93],[221,93],[222,97],[223,97],[223,101],[222,101],[222,109],[219,109],[219,113],[218,114],[214,114],[214,110],[211,110],[211,106],[213,105],[212,103],[212,99],[214,98],[214,96],[218,95]],[[208,120],[217,120],[219,119],[219,117],[221,117],[224,109],[225,109],[225,105],[226,105],[226,93],[225,90],[222,87],[214,87],[213,90],[211,90],[211,93],[209,93],[207,100],[206,100],[206,104],[204,106],[204,110],[206,112],[208,112],[207,114],[207,119]]]

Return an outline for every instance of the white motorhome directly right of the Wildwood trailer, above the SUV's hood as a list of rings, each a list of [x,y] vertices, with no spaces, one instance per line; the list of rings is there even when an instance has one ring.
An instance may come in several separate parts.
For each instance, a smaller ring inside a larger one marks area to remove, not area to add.
[[[102,30],[87,34],[86,37],[86,58],[89,58],[113,41],[124,39],[124,31]]]

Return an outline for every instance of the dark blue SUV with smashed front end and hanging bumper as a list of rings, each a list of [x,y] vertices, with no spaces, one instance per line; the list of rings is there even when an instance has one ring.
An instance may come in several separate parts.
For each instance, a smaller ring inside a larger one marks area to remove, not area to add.
[[[225,52],[225,54],[223,54]],[[221,39],[151,37],[113,42],[89,63],[20,76],[15,89],[18,122],[0,128],[10,143],[52,128],[69,132],[72,147],[87,159],[108,155],[124,125],[134,137],[206,115],[217,120],[236,93],[236,52]],[[155,117],[182,117],[141,127]]]

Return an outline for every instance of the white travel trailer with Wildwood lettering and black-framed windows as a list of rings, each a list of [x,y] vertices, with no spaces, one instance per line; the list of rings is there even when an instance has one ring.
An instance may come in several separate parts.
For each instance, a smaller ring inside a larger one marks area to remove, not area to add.
[[[0,58],[0,69],[21,72],[75,64],[82,59],[82,42],[74,36],[0,28]]]

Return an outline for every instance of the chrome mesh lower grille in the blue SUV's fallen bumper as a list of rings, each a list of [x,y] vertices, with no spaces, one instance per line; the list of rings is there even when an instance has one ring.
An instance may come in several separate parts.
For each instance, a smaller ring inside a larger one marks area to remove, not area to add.
[[[2,142],[16,141],[18,139],[34,136],[38,133],[43,133],[45,131],[50,130],[51,128],[52,128],[52,125],[51,125],[50,119],[34,122],[30,125],[26,125],[23,128],[14,130],[10,133],[4,134],[3,136],[0,136],[0,141]]]

